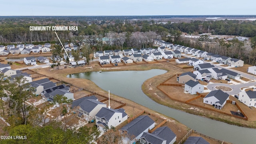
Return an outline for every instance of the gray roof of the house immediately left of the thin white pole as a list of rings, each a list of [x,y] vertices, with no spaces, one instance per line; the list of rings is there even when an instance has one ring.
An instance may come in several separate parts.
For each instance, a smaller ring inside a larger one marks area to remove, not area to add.
[[[74,100],[72,102],[72,108],[79,106],[80,108],[82,108],[82,110],[86,112],[91,112],[96,106],[98,106],[98,104],[104,104],[102,102],[99,102],[98,100],[95,100],[94,97],[84,97],[84,98],[79,98],[77,100]],[[90,98],[93,98],[93,99],[90,99]]]

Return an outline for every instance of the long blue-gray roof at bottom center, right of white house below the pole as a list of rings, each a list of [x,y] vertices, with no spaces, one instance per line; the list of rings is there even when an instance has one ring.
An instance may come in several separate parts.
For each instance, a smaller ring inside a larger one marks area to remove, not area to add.
[[[152,120],[150,117],[138,116],[130,123],[120,128],[120,130],[126,130],[128,135],[134,135],[135,137],[137,137],[144,130],[148,129],[152,124],[154,124],[154,120]]]

